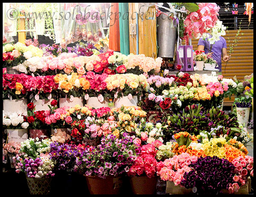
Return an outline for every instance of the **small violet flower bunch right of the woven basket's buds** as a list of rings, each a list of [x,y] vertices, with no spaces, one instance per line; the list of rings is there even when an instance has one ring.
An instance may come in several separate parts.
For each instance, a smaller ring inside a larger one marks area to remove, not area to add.
[[[76,158],[81,156],[82,148],[75,144],[61,144],[54,142],[50,144],[50,159],[55,161],[56,170],[73,169]]]

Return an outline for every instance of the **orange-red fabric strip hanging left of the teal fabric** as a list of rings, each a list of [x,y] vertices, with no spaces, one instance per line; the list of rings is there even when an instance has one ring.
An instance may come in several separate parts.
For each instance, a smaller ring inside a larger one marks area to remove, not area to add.
[[[120,51],[120,33],[119,33],[119,5],[111,3],[111,12],[109,22],[109,44],[108,48],[113,51]]]

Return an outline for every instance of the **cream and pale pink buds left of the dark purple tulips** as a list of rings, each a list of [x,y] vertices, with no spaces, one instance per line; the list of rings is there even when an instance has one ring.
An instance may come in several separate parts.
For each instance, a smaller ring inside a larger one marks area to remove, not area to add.
[[[139,144],[152,144],[156,140],[163,142],[163,130],[166,127],[162,127],[160,122],[154,125],[151,122],[146,122],[145,118],[141,118],[138,127],[135,129],[135,136],[140,142]]]

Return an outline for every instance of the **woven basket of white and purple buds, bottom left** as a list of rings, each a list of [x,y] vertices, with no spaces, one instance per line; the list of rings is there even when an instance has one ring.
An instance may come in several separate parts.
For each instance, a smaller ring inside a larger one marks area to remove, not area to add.
[[[29,138],[20,143],[20,151],[16,155],[16,172],[25,172],[30,194],[49,194],[54,162],[49,158],[49,139]]]

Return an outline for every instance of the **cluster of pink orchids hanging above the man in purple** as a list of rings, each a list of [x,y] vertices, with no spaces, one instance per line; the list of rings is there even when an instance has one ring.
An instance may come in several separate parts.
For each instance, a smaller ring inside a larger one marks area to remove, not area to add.
[[[216,3],[199,3],[198,11],[191,12],[184,20],[185,34],[189,38],[196,38],[207,32],[208,28],[213,28],[218,20],[220,9]]]

